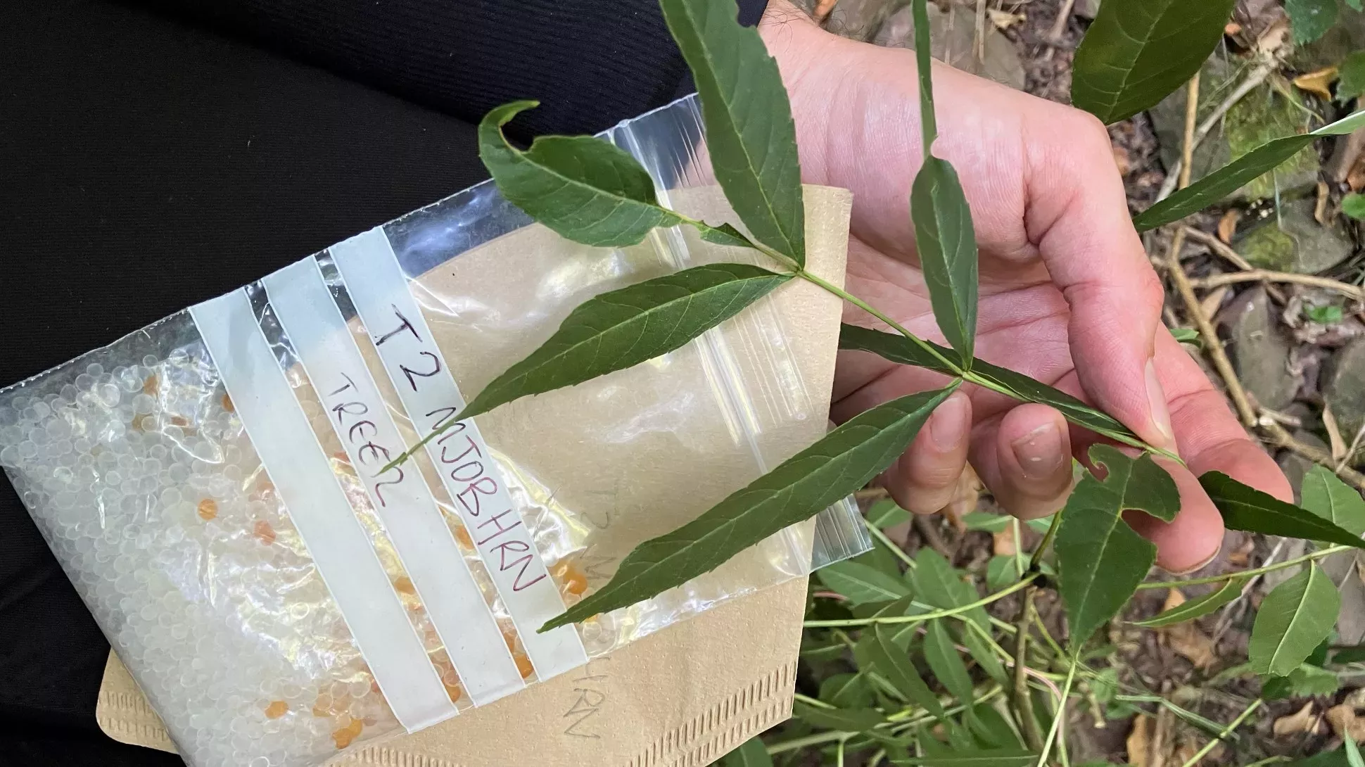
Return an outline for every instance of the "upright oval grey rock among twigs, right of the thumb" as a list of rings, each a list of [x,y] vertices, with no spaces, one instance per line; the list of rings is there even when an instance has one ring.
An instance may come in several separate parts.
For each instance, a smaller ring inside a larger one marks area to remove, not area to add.
[[[1282,409],[1294,401],[1298,379],[1289,373],[1290,343],[1275,322],[1264,288],[1246,291],[1223,310],[1237,377],[1261,407]]]

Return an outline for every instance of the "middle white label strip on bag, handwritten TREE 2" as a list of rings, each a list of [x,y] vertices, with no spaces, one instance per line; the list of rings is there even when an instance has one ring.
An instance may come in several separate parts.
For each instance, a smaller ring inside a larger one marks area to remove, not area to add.
[[[405,449],[403,437],[317,261],[306,258],[262,283],[464,689],[475,706],[521,689],[502,629],[422,472],[399,465],[378,474]]]

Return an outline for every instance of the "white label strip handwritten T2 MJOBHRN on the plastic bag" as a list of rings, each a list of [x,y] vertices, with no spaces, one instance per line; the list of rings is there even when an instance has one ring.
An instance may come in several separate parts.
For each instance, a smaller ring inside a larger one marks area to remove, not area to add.
[[[330,252],[408,418],[419,434],[430,434],[464,407],[464,397],[408,291],[388,236],[384,229],[370,229],[333,246]],[[472,419],[461,422],[426,448],[535,673],[546,680],[587,663],[573,626],[536,633],[545,621],[564,611],[564,599],[478,426]]]

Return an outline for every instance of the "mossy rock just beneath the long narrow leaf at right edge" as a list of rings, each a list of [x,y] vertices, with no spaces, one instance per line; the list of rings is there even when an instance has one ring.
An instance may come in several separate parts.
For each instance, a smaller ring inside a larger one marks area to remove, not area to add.
[[[1346,261],[1355,244],[1340,221],[1324,227],[1313,218],[1313,199],[1295,199],[1279,206],[1279,214],[1252,229],[1237,250],[1261,269],[1312,274]],[[1278,220],[1276,220],[1278,218]]]

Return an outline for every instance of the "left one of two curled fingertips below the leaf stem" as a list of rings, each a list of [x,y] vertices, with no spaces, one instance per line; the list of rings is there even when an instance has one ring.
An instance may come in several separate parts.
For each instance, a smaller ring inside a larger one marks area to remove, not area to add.
[[[954,392],[887,471],[885,484],[891,498],[917,515],[932,515],[946,506],[966,468],[971,431],[972,401],[962,392]]]

